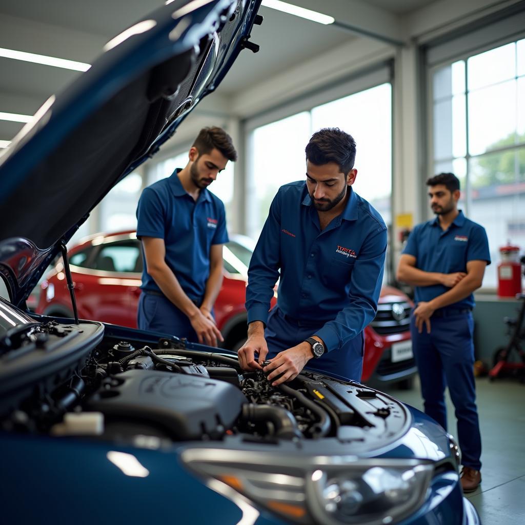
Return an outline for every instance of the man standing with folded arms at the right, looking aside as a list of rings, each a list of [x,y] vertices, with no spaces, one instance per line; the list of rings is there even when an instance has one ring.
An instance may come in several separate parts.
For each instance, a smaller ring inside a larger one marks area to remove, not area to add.
[[[426,183],[437,217],[417,225],[408,237],[397,279],[415,286],[411,332],[425,413],[447,428],[448,385],[463,455],[461,485],[470,492],[481,482],[472,292],[490,264],[489,246],[485,229],[457,209],[457,177],[440,173]]]

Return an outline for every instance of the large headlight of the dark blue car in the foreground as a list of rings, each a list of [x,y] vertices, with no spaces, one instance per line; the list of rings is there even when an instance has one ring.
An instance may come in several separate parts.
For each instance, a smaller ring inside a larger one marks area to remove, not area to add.
[[[323,525],[398,522],[422,505],[434,470],[416,459],[224,449],[187,449],[182,459],[289,521]]]

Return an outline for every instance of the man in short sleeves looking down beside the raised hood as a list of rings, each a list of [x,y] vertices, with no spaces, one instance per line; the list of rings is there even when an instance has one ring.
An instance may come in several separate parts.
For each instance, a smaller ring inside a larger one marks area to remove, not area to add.
[[[217,346],[213,305],[223,280],[224,204],[207,190],[237,153],[220,128],[203,128],[182,170],[142,192],[137,237],[144,270],[138,326]]]

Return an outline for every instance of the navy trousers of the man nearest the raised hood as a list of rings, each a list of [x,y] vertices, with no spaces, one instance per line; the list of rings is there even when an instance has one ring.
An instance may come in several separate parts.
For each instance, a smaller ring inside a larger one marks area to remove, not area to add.
[[[178,338],[186,338],[188,341],[198,343],[197,334],[190,320],[164,296],[141,293],[137,325],[140,330],[176,335]]]

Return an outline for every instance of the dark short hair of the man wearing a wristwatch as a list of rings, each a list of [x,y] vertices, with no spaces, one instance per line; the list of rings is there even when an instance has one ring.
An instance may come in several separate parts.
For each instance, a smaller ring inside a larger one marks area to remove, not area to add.
[[[305,151],[306,160],[316,166],[335,162],[345,175],[354,167],[355,140],[339,128],[316,131]]]

